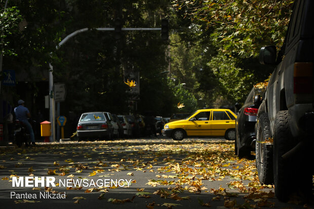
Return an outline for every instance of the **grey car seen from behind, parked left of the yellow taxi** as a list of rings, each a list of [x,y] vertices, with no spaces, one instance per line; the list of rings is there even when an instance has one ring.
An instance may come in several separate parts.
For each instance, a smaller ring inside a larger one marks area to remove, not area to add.
[[[112,125],[105,112],[85,112],[77,123],[77,138],[83,139],[111,139]]]

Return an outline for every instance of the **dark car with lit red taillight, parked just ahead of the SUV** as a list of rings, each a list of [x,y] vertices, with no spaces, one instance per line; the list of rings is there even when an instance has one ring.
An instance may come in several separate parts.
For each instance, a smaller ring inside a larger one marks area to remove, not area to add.
[[[255,151],[256,135],[255,123],[257,110],[261,104],[260,98],[264,97],[265,88],[252,88],[243,106],[235,104],[239,109],[235,120],[234,152],[240,158],[251,157],[251,151]]]

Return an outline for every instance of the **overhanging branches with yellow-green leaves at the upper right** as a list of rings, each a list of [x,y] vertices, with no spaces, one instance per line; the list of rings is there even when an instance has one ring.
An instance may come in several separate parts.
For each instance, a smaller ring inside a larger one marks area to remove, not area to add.
[[[223,54],[257,56],[264,45],[283,44],[293,1],[174,1],[186,17],[214,28],[211,36]]]

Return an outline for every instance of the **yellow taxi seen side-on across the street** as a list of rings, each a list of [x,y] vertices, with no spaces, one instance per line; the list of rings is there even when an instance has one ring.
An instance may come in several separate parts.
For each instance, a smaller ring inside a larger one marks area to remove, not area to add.
[[[162,133],[181,141],[185,137],[224,137],[235,139],[235,115],[229,109],[201,109],[182,120],[165,124]]]

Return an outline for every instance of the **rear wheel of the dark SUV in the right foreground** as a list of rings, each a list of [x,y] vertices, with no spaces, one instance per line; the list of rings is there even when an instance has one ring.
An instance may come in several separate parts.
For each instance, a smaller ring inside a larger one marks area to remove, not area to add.
[[[302,157],[300,155],[294,155],[289,159],[282,157],[297,144],[292,137],[289,121],[290,115],[287,110],[277,113],[273,147],[274,190],[276,197],[281,201],[288,201],[293,192],[301,193],[306,201],[311,196],[312,186],[311,169],[304,170],[309,159],[306,155],[309,155],[309,152],[304,151]]]

